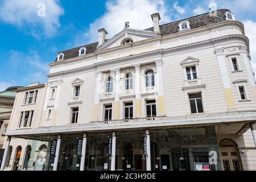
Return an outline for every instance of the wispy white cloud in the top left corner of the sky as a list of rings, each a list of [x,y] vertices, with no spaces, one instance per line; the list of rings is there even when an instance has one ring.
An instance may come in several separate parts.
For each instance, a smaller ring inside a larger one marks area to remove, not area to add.
[[[41,10],[38,4],[45,4],[45,16],[38,16]],[[43,35],[46,37],[54,36],[57,28],[61,27],[59,17],[64,10],[59,6],[58,0],[3,0],[0,3],[0,20],[29,30],[29,33],[37,38]]]

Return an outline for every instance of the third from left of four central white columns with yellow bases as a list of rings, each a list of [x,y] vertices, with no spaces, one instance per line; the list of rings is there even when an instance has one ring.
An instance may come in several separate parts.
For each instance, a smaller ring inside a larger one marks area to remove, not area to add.
[[[135,68],[135,118],[141,118],[141,64],[133,66]]]

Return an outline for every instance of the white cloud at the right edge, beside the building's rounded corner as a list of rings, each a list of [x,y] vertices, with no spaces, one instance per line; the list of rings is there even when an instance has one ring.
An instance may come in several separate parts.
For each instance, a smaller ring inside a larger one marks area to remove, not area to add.
[[[256,22],[253,22],[252,20],[245,20],[243,24],[245,25],[245,35],[250,40],[250,56],[254,73],[256,73]]]

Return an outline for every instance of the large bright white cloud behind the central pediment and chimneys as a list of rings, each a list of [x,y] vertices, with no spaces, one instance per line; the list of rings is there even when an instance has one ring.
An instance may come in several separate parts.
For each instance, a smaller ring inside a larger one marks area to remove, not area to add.
[[[105,28],[110,38],[124,28],[126,21],[129,21],[130,28],[153,27],[150,16],[153,13],[161,15],[161,24],[168,23],[170,22],[168,10],[163,0],[109,0],[106,2],[106,13],[90,24],[85,38],[88,43],[97,42],[99,28]]]

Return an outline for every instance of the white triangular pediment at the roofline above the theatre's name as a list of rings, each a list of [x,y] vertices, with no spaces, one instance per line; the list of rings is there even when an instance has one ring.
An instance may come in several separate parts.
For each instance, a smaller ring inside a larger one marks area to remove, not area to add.
[[[106,40],[105,43],[99,46],[97,48],[97,51],[105,48],[121,46],[123,40],[125,39],[131,39],[133,40],[133,42],[137,42],[139,40],[149,39],[149,38],[153,38],[160,35],[161,34],[154,31],[138,30],[133,28],[123,28],[121,32],[113,36],[111,39]]]

